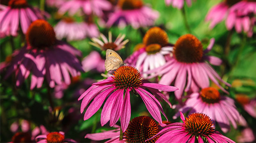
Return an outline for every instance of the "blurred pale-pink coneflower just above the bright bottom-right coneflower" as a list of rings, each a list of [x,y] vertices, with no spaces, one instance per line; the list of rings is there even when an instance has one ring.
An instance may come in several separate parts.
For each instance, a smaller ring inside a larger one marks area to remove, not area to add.
[[[227,96],[222,96],[217,89],[206,87],[201,92],[190,94],[190,98],[186,101],[179,111],[189,114],[199,112],[208,115],[213,123],[218,123],[223,132],[230,129],[230,123],[237,128],[240,114],[235,106],[235,101]],[[174,118],[177,118],[177,113]]]

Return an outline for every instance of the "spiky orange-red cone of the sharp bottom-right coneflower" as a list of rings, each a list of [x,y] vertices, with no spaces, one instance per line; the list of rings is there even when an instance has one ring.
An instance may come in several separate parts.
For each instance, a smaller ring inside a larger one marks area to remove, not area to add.
[[[203,113],[190,114],[184,124],[184,129],[194,136],[208,136],[215,132],[210,117]]]

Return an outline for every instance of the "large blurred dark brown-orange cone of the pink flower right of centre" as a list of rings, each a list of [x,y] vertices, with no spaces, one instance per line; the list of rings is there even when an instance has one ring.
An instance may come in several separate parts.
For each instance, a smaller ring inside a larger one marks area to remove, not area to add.
[[[181,63],[196,63],[202,60],[202,43],[192,34],[181,36],[174,45],[174,57]]]

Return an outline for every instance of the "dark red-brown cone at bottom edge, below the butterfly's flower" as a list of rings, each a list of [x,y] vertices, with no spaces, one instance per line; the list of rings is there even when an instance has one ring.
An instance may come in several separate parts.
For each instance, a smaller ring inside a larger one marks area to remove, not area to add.
[[[127,130],[124,133],[124,139],[126,140],[126,143],[154,143],[159,137],[150,141],[146,140],[150,139],[158,132],[158,125],[152,118],[148,116],[139,116],[130,121]]]

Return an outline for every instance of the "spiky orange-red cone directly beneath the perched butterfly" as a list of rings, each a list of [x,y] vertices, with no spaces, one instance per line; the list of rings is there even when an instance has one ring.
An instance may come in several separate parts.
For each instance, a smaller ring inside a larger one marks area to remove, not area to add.
[[[142,76],[138,69],[128,65],[116,69],[112,78],[119,89],[136,88],[142,82]]]

